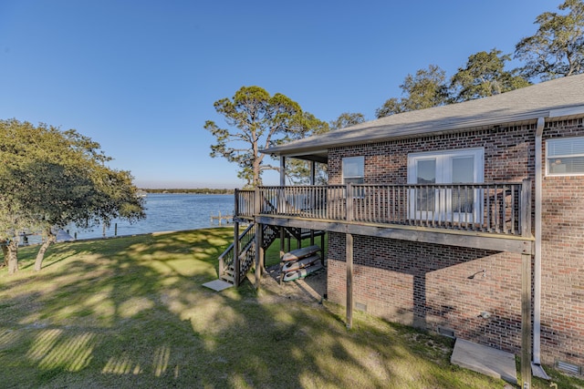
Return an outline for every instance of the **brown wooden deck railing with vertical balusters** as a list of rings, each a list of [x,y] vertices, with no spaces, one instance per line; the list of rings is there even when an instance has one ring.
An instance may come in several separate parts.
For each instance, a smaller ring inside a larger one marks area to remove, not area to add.
[[[277,215],[472,230],[531,233],[531,181],[260,187],[237,190],[235,216]]]

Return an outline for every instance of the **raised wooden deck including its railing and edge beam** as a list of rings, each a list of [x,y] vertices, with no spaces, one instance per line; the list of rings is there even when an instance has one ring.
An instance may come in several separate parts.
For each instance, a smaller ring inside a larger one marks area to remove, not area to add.
[[[260,187],[235,191],[235,218],[531,254],[531,181]]]

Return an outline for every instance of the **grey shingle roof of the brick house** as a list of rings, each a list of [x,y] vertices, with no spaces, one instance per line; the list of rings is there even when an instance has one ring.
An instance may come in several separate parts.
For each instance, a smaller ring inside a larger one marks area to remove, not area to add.
[[[328,148],[533,122],[537,118],[570,113],[569,108],[572,107],[581,107],[576,108],[576,112],[584,116],[584,74],[558,78],[493,97],[391,115],[266,148],[262,152],[318,159],[318,152],[324,156]]]

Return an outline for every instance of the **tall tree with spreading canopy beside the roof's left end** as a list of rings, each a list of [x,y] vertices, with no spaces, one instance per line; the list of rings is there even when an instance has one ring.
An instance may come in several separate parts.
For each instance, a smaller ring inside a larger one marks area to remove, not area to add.
[[[241,87],[234,97],[215,101],[214,107],[229,128],[205,122],[203,128],[216,140],[211,157],[236,163],[246,187],[261,185],[267,169],[279,169],[265,162],[261,148],[328,130],[326,122],[304,112],[296,101],[279,93],[270,96],[262,87]]]

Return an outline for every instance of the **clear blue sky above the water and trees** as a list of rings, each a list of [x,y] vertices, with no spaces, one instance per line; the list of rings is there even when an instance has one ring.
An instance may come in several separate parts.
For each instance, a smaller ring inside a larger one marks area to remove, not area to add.
[[[141,188],[241,188],[209,157],[214,101],[256,85],[321,120],[373,119],[408,74],[511,54],[561,3],[1,0],[0,118],[75,128]]]

